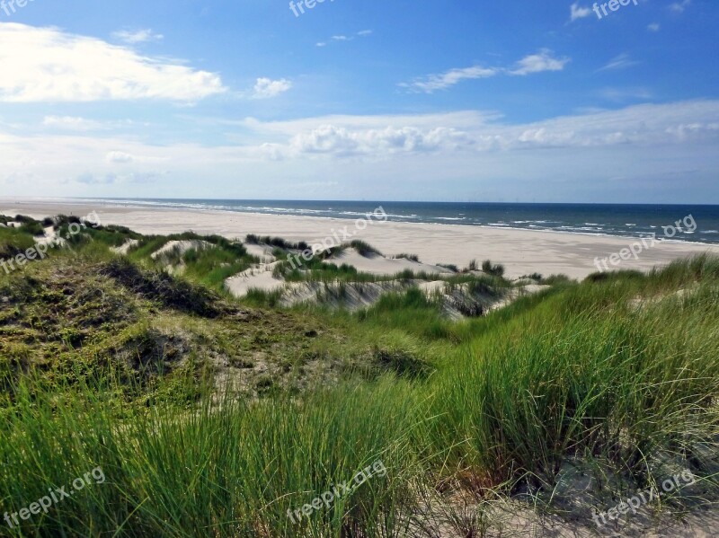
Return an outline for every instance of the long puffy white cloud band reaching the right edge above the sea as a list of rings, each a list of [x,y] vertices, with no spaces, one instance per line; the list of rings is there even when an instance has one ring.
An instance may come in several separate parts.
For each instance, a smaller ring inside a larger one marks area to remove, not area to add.
[[[253,137],[273,140],[275,154],[371,158],[395,154],[485,153],[527,147],[661,145],[695,139],[719,140],[719,101],[633,105],[508,124],[474,110],[418,116],[329,116],[241,124]]]

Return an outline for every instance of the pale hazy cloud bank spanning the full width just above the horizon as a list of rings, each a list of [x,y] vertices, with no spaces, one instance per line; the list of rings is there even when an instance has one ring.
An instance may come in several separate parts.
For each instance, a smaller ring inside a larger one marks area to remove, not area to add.
[[[271,198],[281,188],[284,196],[301,198],[303,190],[293,190],[295,183],[340,181],[340,170],[341,185],[333,196],[343,198],[445,199],[464,196],[469,191],[463,185],[491,185],[497,193],[493,199],[529,193],[528,199],[576,201],[596,194],[597,200],[612,201],[602,198],[603,181],[622,175],[627,178],[622,189],[645,201],[642,193],[653,192],[652,176],[661,173],[676,183],[680,200],[687,199],[682,193],[695,181],[682,173],[690,162],[699,171],[694,192],[704,189],[719,199],[719,100],[633,105],[531,123],[459,110],[269,122],[218,119],[217,124],[225,131],[235,128],[236,140],[220,146],[163,145],[143,143],[134,133],[18,136],[0,126],[3,194],[157,198],[172,190],[174,196],[196,198],[201,194],[197,178],[212,177],[220,197],[241,190]],[[111,162],[111,152],[133,160]],[[547,181],[556,189],[547,190]],[[566,181],[570,190],[557,181]]]

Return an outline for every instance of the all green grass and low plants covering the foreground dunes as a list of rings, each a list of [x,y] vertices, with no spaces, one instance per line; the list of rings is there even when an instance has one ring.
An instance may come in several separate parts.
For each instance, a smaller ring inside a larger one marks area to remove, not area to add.
[[[89,231],[75,251],[0,272],[0,511],[97,467],[106,477],[0,534],[414,535],[422,499],[551,496],[569,460],[600,462],[623,490],[663,478],[670,460],[715,498],[717,258],[558,278],[451,322],[418,288],[359,313],[265,310],[280,297],[259,291],[248,308],[218,294],[213,273],[249,262],[241,245],[173,236],[215,245],[182,255],[176,278],[149,260],[170,238],[121,259],[116,234],[130,233]],[[0,229],[0,246],[28,237]],[[386,476],[290,521],[377,460]],[[590,521],[590,506],[576,510]]]

